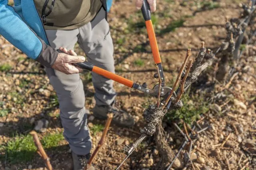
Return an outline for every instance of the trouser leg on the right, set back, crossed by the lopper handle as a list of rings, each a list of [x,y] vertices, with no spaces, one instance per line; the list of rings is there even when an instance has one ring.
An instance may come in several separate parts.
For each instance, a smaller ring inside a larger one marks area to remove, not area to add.
[[[90,23],[79,28],[78,43],[86,53],[90,63],[110,72],[115,72],[114,47],[103,8]],[[112,104],[116,97],[113,81],[92,72],[92,82],[95,89],[96,104],[105,106]]]

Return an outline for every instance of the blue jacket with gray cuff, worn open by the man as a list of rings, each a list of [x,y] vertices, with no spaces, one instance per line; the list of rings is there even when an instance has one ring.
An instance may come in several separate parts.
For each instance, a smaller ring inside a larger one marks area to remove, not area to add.
[[[102,4],[109,10],[112,0],[103,0]],[[8,0],[0,0],[0,35],[46,67],[51,67],[58,56],[49,45],[33,0],[14,0],[14,7]]]

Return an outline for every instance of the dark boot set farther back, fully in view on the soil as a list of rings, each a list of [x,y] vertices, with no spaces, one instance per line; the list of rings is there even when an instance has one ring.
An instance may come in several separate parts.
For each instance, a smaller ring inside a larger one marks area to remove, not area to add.
[[[132,127],[134,125],[134,119],[132,115],[126,113],[122,109],[118,109],[114,106],[114,103],[111,106],[98,106],[96,105],[93,109],[93,115],[98,119],[107,119],[108,113],[113,113],[114,117],[112,121],[121,127]]]

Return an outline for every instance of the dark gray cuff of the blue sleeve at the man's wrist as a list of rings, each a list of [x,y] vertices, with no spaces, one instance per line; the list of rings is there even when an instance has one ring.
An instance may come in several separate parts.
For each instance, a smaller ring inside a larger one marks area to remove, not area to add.
[[[51,67],[55,62],[56,58],[58,57],[58,51],[47,45],[41,39],[40,41],[42,42],[42,51],[37,57],[36,61],[46,67]]]

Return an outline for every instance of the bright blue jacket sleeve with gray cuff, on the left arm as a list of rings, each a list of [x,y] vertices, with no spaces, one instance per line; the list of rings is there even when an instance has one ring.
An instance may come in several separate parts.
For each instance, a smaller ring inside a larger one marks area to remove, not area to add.
[[[0,35],[20,49],[29,58],[50,67],[58,52],[46,45],[20,16],[8,5],[8,0],[0,0]]]

